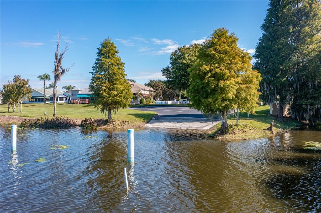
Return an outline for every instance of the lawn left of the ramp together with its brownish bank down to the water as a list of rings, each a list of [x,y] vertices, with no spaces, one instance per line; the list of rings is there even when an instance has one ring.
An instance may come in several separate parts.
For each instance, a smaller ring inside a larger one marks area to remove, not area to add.
[[[17,110],[17,108],[16,108]],[[44,111],[47,112],[47,116],[44,116]],[[48,103],[46,105],[41,103],[26,103],[22,105],[22,112],[7,112],[6,105],[0,105],[0,122],[1,126],[16,124],[19,125],[24,119],[40,118],[40,117],[52,117],[53,104]],[[127,128],[127,127],[143,127],[149,122],[156,114],[153,111],[138,111],[131,109],[119,109],[117,112],[117,119],[114,125],[100,127],[104,128]],[[68,104],[57,103],[57,117],[67,117],[73,119],[76,125],[79,125],[82,119],[107,119],[105,115],[102,115],[100,111],[97,111],[92,104]],[[115,119],[115,115],[112,115]],[[124,121],[124,122],[122,122]]]

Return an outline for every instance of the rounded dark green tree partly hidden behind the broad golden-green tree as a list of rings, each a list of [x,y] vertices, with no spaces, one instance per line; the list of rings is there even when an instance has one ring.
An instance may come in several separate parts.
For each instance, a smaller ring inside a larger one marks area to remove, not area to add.
[[[186,91],[189,86],[188,69],[197,61],[199,44],[178,47],[169,57],[169,66],[161,70],[166,78],[166,85],[180,94]]]

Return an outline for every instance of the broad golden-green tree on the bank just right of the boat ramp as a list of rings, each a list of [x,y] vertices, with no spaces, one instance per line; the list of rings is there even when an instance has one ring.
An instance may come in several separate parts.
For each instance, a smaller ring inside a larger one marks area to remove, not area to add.
[[[201,45],[198,61],[189,69],[190,86],[187,95],[192,101],[192,107],[211,118],[220,114],[221,132],[228,129],[229,111],[243,107],[238,106],[238,87],[243,82],[242,77],[252,72],[252,57],[240,49],[237,42],[235,34],[229,34],[227,29],[214,30],[212,36]],[[253,111],[252,108],[245,110]]]

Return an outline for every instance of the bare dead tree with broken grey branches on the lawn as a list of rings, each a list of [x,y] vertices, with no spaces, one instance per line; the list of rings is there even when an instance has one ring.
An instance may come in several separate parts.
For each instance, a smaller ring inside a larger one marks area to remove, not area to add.
[[[68,50],[68,43],[65,46],[65,50],[62,51],[61,53],[59,52],[59,48],[60,48],[60,37],[61,37],[61,33],[58,31],[57,33],[57,51],[55,53],[55,69],[54,71],[52,71],[54,73],[54,92],[53,92],[53,102],[54,102],[54,114],[53,116],[56,116],[56,99],[57,99],[57,83],[60,81],[61,77],[63,75],[65,75],[66,72],[68,72],[70,70],[70,68],[72,66],[74,66],[74,64],[71,67],[68,67],[67,69],[64,69],[62,66],[62,60],[65,58],[65,53]]]

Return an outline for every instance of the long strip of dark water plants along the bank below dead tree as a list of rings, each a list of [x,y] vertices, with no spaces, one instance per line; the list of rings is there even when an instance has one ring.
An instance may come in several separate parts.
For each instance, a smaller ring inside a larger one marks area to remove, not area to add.
[[[40,117],[25,119],[20,123],[24,128],[66,128],[76,126],[76,121],[67,117]]]

